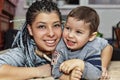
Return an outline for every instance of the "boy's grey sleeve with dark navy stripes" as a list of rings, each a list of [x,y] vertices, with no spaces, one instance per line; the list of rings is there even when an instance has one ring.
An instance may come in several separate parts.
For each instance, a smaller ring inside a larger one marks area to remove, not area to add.
[[[89,80],[98,80],[101,76],[100,51],[89,48],[84,62],[85,67],[82,77]]]

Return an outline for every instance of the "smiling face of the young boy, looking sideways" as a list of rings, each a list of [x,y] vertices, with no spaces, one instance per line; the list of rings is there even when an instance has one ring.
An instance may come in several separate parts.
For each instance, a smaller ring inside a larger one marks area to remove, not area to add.
[[[90,40],[89,23],[69,17],[63,31],[63,39],[69,49],[78,50]]]

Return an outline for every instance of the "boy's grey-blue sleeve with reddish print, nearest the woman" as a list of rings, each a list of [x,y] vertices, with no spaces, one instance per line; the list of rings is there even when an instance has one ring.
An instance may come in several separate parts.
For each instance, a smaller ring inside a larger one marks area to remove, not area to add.
[[[63,73],[59,71],[60,64],[64,61],[64,55],[59,52],[53,53],[52,56],[52,76],[58,79]]]

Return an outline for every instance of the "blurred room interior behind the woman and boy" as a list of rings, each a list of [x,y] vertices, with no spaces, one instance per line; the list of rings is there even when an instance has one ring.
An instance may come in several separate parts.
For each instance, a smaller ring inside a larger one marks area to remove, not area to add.
[[[17,32],[25,21],[28,7],[37,0],[0,0],[0,50],[9,49]],[[94,8],[100,16],[99,33],[114,47],[112,60],[120,60],[120,0],[53,0],[66,15],[77,6]]]

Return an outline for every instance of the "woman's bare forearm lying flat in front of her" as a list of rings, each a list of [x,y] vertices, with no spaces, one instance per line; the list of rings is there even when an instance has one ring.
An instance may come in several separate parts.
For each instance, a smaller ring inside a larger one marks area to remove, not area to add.
[[[26,80],[46,76],[51,76],[49,64],[39,67],[15,67],[10,65],[0,67],[0,79],[2,80]]]

